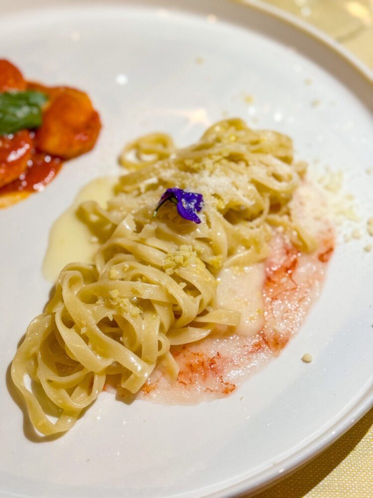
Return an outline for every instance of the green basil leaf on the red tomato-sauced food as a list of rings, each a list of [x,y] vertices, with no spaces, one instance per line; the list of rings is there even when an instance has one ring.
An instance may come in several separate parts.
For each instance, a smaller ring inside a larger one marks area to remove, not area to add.
[[[46,95],[34,90],[0,93],[0,135],[39,127],[47,100]]]

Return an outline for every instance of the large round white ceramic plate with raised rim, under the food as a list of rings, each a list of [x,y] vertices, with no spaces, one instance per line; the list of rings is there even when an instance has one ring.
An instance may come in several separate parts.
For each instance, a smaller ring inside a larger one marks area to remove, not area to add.
[[[337,248],[300,333],[227,399],[126,405],[103,393],[69,433],[42,443],[28,439],[5,385],[17,342],[48,297],[41,264],[53,221],[82,185],[118,171],[119,150],[137,135],[166,130],[187,144],[227,114],[277,128],[293,137],[298,157],[345,170],[362,214],[373,213],[367,72],[268,12],[225,0],[2,2],[1,55],[29,79],[88,91],[104,126],[92,153],[68,163],[43,193],[0,213],[0,496],[252,493],[372,405],[366,241]],[[300,361],[305,352],[314,358],[309,365]]]

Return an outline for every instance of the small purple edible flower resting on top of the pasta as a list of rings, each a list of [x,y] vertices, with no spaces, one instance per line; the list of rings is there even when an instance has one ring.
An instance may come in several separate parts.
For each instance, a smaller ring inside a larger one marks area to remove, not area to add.
[[[176,204],[178,213],[182,218],[194,223],[201,223],[197,213],[202,209],[203,197],[202,194],[194,192],[186,192],[181,188],[168,188],[162,195],[156,210],[154,211],[153,218],[157,215],[157,211],[166,201],[171,201]]]

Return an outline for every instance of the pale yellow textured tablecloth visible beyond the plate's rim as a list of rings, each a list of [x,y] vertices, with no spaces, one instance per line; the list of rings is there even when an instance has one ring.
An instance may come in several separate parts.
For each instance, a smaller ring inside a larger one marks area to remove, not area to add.
[[[373,69],[373,0],[265,0],[311,22]],[[373,498],[373,409],[309,464],[255,498]]]

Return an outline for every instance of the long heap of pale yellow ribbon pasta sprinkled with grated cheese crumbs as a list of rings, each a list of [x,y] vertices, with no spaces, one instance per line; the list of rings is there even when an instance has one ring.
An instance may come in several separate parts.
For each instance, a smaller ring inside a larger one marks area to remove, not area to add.
[[[263,260],[274,230],[303,251],[316,247],[289,209],[306,168],[293,161],[285,135],[231,119],[184,149],[168,135],[147,135],[127,145],[120,162],[129,172],[106,209],[94,200],[79,209],[101,244],[94,264],[61,271],[12,362],[30,419],[45,435],[70,429],[110,375],[136,393],[161,364],[173,382],[171,346],[218,326],[234,330],[240,314],[217,307],[217,275]],[[200,223],[172,202],[154,216],[175,187],[203,196]]]

